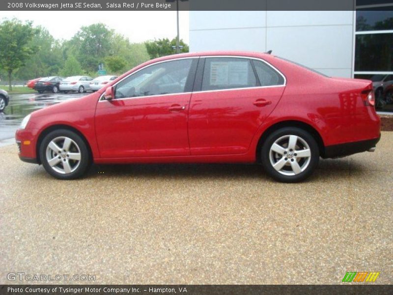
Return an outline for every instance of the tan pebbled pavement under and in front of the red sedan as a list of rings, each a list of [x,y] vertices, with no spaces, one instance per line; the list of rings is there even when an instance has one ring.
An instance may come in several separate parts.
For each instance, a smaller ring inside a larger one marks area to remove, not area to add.
[[[390,284],[392,146],[383,132],[374,153],[321,160],[298,184],[259,166],[191,164],[93,166],[60,181],[2,147],[0,283],[25,272],[95,274],[98,284],[338,284],[346,271],[378,271],[375,283]]]

